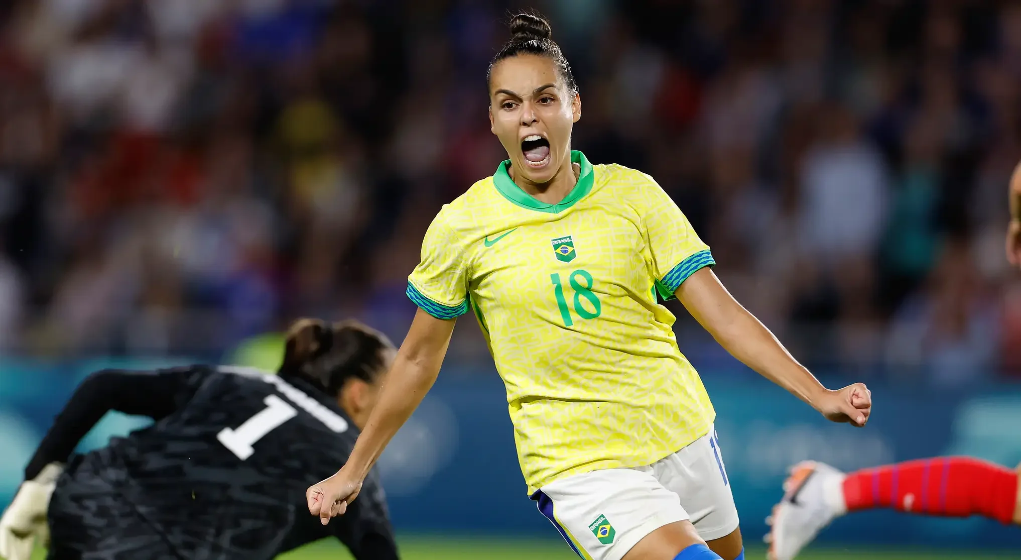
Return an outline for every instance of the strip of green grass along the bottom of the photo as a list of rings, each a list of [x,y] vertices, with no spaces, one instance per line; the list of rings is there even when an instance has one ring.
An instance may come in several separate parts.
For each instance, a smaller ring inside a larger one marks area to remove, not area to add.
[[[400,539],[402,560],[578,560],[567,544],[562,541],[521,539],[484,539],[442,536],[405,536]],[[763,548],[749,548],[747,560],[766,558]],[[37,551],[33,560],[43,560],[42,551]],[[1006,560],[1021,558],[1021,551],[1013,553],[973,553],[967,550],[936,551],[907,548],[821,548],[807,551],[798,560]],[[332,541],[320,541],[296,551],[278,557],[279,560],[350,560],[347,550]]]

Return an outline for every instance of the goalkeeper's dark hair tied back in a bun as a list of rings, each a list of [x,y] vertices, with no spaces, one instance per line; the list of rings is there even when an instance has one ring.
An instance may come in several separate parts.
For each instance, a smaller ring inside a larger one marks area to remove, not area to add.
[[[351,378],[374,382],[395,349],[382,332],[354,320],[299,319],[287,332],[281,376],[304,379],[331,396]]]

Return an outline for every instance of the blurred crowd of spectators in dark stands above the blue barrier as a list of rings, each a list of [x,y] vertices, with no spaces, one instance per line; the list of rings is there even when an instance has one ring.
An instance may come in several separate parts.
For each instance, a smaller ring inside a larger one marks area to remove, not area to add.
[[[471,119],[482,100],[448,94],[498,46],[498,4],[3,3],[5,352],[215,361],[308,313],[398,335],[422,217],[500,149]],[[589,4],[565,45],[591,92],[587,157],[653,173],[820,375],[924,369],[886,367],[882,340],[942,239],[982,250],[984,161],[1018,155],[1018,8]],[[692,360],[729,360],[677,328]],[[975,367],[1017,362],[994,351]]]

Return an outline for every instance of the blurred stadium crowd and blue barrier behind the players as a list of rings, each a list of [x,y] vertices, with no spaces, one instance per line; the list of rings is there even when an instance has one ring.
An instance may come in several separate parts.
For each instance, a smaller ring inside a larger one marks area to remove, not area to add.
[[[1019,2],[5,0],[0,499],[93,369],[274,368],[302,315],[401,340],[427,226],[504,158],[485,71],[524,7],[581,86],[574,147],[651,174],[739,300],[824,382],[876,396],[869,429],[824,425],[671,305],[749,542],[799,459],[1021,461]],[[555,536],[473,323],[382,464],[395,521]],[[821,536],[847,542],[1021,556],[978,520],[862,514]]]

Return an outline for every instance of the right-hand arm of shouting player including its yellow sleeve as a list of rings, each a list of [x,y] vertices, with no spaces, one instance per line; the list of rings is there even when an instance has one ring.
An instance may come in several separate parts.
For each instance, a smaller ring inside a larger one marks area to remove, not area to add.
[[[872,399],[862,383],[828,390],[795,361],[713,274],[709,245],[651,178],[641,189],[642,226],[660,294],[676,296],[723,347],[764,377],[792,392],[830,420],[863,426]]]

